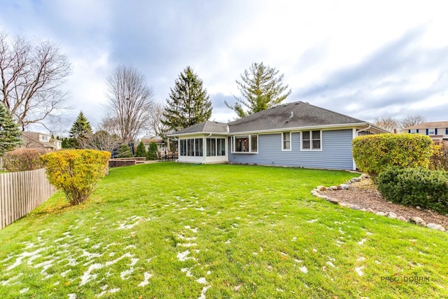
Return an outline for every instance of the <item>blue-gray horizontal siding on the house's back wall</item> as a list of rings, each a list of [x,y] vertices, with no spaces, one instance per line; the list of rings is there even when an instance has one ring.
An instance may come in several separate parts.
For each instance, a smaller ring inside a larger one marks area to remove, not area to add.
[[[229,162],[324,169],[352,169],[352,130],[322,132],[322,151],[300,151],[300,133],[291,134],[292,151],[281,151],[281,134],[258,135],[258,154],[232,153]]]

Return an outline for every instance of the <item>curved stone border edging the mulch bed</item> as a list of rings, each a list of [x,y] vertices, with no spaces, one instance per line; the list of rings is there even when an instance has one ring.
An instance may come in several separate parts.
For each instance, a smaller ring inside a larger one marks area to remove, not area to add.
[[[386,216],[388,218],[398,219],[401,221],[407,221],[409,223],[426,226],[427,228],[431,228],[433,230],[440,230],[442,232],[445,231],[445,229],[442,225],[437,224],[437,223],[426,223],[425,221],[423,221],[422,218],[417,217],[417,216],[406,219],[403,216],[398,216],[397,214],[393,213],[392,211],[377,211],[377,212],[375,212],[371,208],[360,209],[360,207],[358,207],[356,204],[348,204],[346,202],[341,202],[341,201],[337,200],[336,198],[328,197],[326,195],[321,195],[321,193],[319,193],[319,191],[325,191],[325,190],[347,190],[347,189],[349,189],[351,183],[358,183],[358,182],[362,181],[363,179],[369,179],[369,178],[370,178],[370,176],[368,174],[361,174],[359,177],[357,177],[357,178],[353,177],[350,179],[350,181],[347,181],[346,183],[342,183],[338,186],[330,186],[330,187],[317,186],[316,188],[311,190],[311,194],[318,198],[322,198],[323,200],[326,200],[327,202],[331,202],[332,204],[339,204],[339,206],[341,206],[341,207],[347,207],[347,208],[356,209],[359,211],[368,211],[368,212],[374,213],[375,215],[378,215],[378,216]]]

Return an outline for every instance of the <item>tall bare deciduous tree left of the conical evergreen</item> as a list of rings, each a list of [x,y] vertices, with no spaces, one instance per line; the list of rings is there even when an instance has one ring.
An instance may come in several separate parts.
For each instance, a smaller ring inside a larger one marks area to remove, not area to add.
[[[146,79],[132,67],[116,67],[107,78],[109,123],[118,130],[121,138],[135,140],[144,130],[153,108],[153,90]]]

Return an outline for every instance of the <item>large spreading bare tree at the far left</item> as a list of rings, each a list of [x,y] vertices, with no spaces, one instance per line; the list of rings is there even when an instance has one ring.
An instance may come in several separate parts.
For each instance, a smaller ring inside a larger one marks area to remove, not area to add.
[[[67,92],[61,85],[71,74],[71,64],[49,41],[36,45],[0,32],[0,101],[25,130],[30,124],[43,126],[64,108]]]

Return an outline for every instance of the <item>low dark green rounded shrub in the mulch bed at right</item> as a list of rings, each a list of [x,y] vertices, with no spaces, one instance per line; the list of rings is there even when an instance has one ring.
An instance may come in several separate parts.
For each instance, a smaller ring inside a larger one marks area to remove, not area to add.
[[[379,174],[377,188],[391,202],[448,212],[447,172],[391,167]]]

